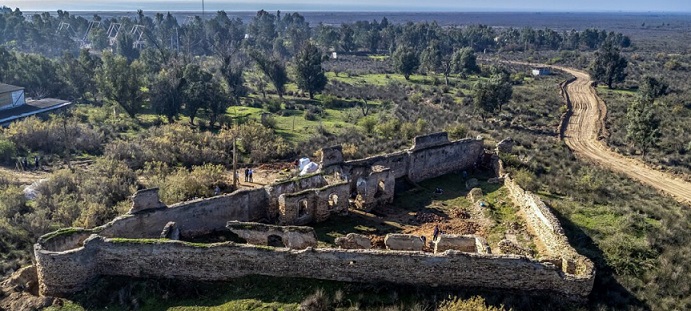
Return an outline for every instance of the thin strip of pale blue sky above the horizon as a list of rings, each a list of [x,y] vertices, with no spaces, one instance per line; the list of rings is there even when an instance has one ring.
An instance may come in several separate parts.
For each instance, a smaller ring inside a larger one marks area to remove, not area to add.
[[[22,11],[201,11],[202,0],[4,0]],[[691,0],[204,0],[208,11],[691,12]]]

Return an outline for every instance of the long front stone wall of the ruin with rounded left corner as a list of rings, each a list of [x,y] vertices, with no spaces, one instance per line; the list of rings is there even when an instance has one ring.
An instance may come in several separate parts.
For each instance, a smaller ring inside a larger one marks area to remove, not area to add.
[[[550,263],[514,255],[446,251],[257,247],[232,242],[196,245],[172,240],[110,240],[94,237],[84,248],[43,252],[37,266],[44,295],[64,296],[85,288],[96,275],[221,281],[246,275],[391,282],[424,286],[472,286],[556,291],[584,297],[592,280],[564,274]],[[328,267],[315,269],[314,267]],[[443,276],[443,277],[440,277]]]

